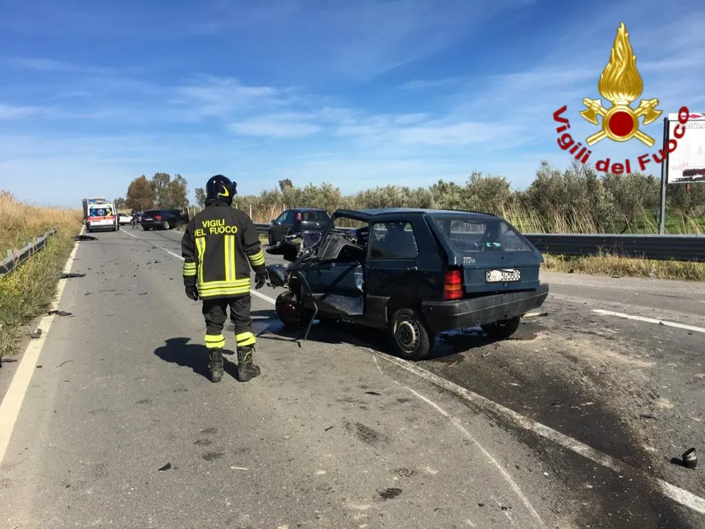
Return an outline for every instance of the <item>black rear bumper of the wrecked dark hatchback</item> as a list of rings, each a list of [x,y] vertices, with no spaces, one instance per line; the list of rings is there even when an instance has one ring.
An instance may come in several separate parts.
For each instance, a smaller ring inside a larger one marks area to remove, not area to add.
[[[548,296],[548,284],[534,291],[508,292],[458,301],[426,301],[421,310],[431,332],[454,331],[508,320],[539,308]]]

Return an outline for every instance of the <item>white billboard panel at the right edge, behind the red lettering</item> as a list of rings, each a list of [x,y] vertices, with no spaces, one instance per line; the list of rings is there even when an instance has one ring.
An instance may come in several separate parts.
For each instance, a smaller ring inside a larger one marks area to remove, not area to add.
[[[676,127],[685,128],[685,134],[675,134]],[[668,154],[666,183],[705,183],[705,114],[691,112],[685,125],[678,122],[678,114],[668,114],[664,145],[671,138],[678,138],[678,149]]]

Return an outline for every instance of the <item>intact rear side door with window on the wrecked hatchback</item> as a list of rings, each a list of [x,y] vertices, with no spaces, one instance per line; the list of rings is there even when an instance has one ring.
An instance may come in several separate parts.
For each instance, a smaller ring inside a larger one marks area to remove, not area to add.
[[[410,220],[380,221],[370,226],[365,278],[365,318],[386,322],[386,306],[392,298],[418,296],[419,247]]]

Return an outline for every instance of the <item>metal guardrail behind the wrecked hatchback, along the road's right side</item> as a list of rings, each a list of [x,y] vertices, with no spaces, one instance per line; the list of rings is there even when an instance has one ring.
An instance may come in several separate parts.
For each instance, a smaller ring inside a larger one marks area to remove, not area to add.
[[[269,224],[255,224],[266,233]],[[599,255],[653,260],[705,262],[705,235],[628,235],[621,233],[524,233],[541,253],[552,255]]]

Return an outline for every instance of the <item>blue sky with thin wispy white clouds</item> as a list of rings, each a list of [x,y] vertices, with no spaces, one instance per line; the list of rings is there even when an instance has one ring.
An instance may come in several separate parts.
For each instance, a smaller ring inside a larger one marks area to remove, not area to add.
[[[589,4],[589,7],[587,7]],[[140,174],[241,194],[533,179],[570,163],[624,22],[664,113],[705,111],[702,1],[25,0],[0,18],[0,188],[75,206]],[[644,131],[661,142],[661,119]],[[649,151],[603,141],[592,159]]]

